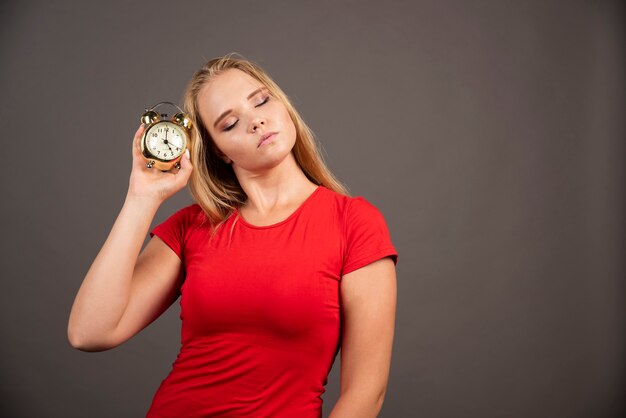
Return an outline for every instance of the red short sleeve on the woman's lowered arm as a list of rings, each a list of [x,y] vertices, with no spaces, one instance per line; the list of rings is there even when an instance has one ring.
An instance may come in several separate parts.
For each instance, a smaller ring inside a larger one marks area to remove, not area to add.
[[[362,197],[350,200],[345,218],[346,252],[342,275],[384,257],[398,263],[387,223],[382,213]]]

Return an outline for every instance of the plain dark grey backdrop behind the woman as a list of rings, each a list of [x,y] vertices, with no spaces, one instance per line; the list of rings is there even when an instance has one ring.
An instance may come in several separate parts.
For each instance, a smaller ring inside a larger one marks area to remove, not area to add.
[[[273,75],[387,219],[399,294],[381,417],[626,412],[620,2],[0,12],[1,416],[145,414],[178,352],[178,304],[98,354],[70,348],[67,317],[123,203],[143,109],[232,51]],[[190,202],[179,193],[154,224]]]

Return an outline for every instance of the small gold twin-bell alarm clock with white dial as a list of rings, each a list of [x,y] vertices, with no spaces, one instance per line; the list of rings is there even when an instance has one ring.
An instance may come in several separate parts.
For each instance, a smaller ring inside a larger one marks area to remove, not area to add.
[[[179,112],[167,119],[166,113],[154,110],[163,104],[169,104]],[[146,109],[146,113],[141,116],[141,122],[147,125],[141,138],[141,153],[146,159],[146,166],[161,171],[169,171],[172,167],[180,168],[180,159],[191,136],[191,120],[185,112],[174,103],[160,102]]]

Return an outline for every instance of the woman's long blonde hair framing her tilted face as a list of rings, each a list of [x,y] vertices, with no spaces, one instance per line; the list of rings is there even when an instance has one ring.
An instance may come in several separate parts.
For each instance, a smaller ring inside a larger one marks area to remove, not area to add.
[[[247,196],[230,164],[221,158],[221,152],[204,126],[198,111],[198,94],[202,87],[222,72],[237,69],[250,75],[266,87],[270,94],[280,100],[296,128],[296,143],[293,154],[296,162],[309,180],[318,185],[349,196],[342,185],[326,166],[313,136],[287,95],[258,65],[228,54],[211,59],[193,75],[184,94],[184,107],[193,122],[189,152],[193,163],[189,188],[198,205],[217,229],[234,211],[245,203]]]

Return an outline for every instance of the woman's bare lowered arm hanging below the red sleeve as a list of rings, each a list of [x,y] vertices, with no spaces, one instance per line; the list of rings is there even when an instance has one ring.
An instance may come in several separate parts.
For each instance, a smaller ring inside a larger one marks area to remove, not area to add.
[[[389,257],[342,277],[341,389],[329,418],[378,416],[389,379],[396,295]]]

